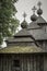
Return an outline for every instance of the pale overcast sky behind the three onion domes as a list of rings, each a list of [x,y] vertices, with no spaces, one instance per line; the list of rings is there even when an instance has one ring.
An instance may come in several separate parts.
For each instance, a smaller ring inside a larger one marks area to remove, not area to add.
[[[25,12],[27,14],[26,16],[26,21],[30,23],[31,22],[31,15],[33,13],[32,8],[34,5],[37,7],[38,1],[42,2],[42,9],[43,9],[43,17],[47,21],[47,0],[19,0],[15,3],[17,13],[16,13],[16,17],[20,20],[20,22],[23,21],[23,13]]]

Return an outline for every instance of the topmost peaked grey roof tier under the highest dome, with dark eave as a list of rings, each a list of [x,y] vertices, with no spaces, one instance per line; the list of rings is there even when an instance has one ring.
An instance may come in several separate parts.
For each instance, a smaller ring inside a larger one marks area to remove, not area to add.
[[[47,24],[47,22],[43,19],[43,16],[38,16],[37,17],[37,20],[35,21],[35,22],[32,22],[32,23],[30,23],[30,26],[27,27],[27,28],[39,28],[40,26],[40,24]]]

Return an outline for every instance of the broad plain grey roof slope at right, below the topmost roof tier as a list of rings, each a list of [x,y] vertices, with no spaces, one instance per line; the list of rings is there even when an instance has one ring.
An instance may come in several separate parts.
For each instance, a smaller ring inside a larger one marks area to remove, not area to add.
[[[35,38],[35,40],[43,40],[47,39],[47,32],[45,32],[44,28],[38,28],[38,29],[30,29],[30,33],[32,36]]]

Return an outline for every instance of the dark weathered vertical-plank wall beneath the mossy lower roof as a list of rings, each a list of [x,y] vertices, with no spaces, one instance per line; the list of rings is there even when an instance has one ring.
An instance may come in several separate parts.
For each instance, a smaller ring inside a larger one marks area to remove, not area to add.
[[[0,55],[0,71],[47,71],[47,56]]]

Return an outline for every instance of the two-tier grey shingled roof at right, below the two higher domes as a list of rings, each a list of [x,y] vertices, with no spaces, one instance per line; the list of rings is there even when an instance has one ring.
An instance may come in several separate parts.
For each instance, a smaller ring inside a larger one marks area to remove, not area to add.
[[[28,26],[31,35],[33,35],[36,40],[47,39],[47,33],[45,33],[45,27],[39,26],[40,24],[47,25],[47,22],[44,20],[43,16],[38,16],[37,20],[35,22],[32,22]]]

